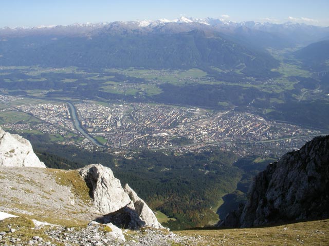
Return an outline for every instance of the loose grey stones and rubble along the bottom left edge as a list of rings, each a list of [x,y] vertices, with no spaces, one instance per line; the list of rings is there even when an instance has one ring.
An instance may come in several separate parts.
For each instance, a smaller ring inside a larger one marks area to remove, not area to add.
[[[81,245],[81,246],[105,246],[105,245],[196,245],[196,239],[188,236],[177,236],[167,230],[143,228],[140,231],[125,230],[123,232],[126,241],[114,239],[111,232],[105,230],[104,225],[89,223],[85,228],[65,227],[37,227],[31,229],[29,238],[22,238],[20,233],[23,227],[8,226],[6,231],[0,232],[1,245]],[[26,228],[24,228],[26,230]],[[26,232],[26,231],[25,231]],[[42,233],[42,235],[40,234]]]

